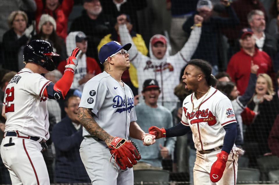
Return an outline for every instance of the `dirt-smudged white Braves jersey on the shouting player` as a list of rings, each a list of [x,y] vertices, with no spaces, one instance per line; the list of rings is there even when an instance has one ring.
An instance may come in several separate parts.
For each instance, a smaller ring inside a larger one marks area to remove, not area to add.
[[[183,101],[181,123],[191,127],[198,151],[223,145],[223,126],[236,122],[229,98],[217,89],[210,88],[207,96],[205,94],[197,100],[190,94]]]

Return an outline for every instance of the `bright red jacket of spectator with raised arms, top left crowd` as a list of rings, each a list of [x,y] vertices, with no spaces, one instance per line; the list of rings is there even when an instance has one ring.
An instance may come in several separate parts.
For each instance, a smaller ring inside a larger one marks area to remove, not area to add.
[[[36,11],[37,31],[38,32],[40,31],[38,30],[38,24],[41,15],[49,14],[52,17],[54,17],[56,21],[57,35],[65,40],[67,36],[68,17],[74,6],[74,0],[63,0],[61,5],[58,5],[58,7],[54,11],[51,11],[48,8],[44,7],[42,0],[35,0],[35,1],[37,4],[37,11]]]

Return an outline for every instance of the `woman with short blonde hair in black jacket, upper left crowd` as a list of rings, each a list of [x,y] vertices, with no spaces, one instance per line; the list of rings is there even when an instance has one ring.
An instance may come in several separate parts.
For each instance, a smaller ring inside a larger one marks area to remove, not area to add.
[[[24,67],[23,47],[30,39],[31,31],[26,30],[27,14],[23,11],[13,11],[8,17],[8,30],[3,35],[3,68],[18,72]]]

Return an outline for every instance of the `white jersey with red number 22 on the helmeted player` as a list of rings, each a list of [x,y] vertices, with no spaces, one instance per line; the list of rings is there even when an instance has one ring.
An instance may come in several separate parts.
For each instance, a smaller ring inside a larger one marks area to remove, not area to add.
[[[51,83],[43,76],[23,68],[9,82],[3,106],[8,131],[49,139],[47,98],[43,97],[46,86]]]

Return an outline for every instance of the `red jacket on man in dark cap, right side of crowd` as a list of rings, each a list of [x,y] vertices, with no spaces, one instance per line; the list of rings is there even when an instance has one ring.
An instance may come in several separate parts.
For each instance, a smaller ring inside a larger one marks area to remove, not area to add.
[[[251,72],[251,61],[260,67],[257,74],[266,73],[271,77],[273,76],[271,58],[266,52],[255,48],[254,56],[250,56],[241,48],[239,52],[232,56],[227,67],[227,73],[232,78],[232,81],[236,83],[240,95],[245,92],[248,85]]]

